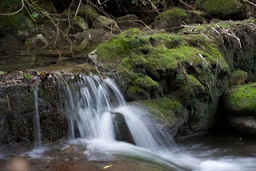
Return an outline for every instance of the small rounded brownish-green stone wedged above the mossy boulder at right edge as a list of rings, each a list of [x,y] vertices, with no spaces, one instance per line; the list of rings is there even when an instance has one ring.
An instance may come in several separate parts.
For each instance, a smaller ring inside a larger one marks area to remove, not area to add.
[[[240,85],[246,81],[248,74],[243,70],[234,70],[228,75],[230,85]]]

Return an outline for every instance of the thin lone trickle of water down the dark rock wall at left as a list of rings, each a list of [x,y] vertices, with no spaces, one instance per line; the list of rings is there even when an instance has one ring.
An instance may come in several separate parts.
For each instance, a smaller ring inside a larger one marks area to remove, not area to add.
[[[40,117],[38,111],[38,84],[34,88],[34,146],[36,149],[42,147]]]

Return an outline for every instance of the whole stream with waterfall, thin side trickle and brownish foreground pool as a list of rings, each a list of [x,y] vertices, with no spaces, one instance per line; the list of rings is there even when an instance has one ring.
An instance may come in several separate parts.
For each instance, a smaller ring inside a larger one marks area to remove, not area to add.
[[[174,142],[144,109],[126,103],[110,78],[54,75],[67,139],[43,143],[34,90],[35,142],[0,146],[0,168],[29,170],[253,171],[256,145],[241,137],[209,136]],[[18,166],[17,166],[18,165]]]

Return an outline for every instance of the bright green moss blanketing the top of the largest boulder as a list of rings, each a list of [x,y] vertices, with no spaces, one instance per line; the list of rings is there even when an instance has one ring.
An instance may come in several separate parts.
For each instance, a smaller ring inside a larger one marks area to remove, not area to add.
[[[189,82],[192,91],[203,91],[203,86],[218,74],[229,72],[222,54],[203,35],[144,35],[132,29],[98,46],[97,54],[98,62],[117,64],[115,69],[129,85],[128,89],[134,90],[135,86],[153,97],[163,94],[159,81],[175,79],[175,74],[184,73],[188,67],[193,68],[193,74],[182,84]],[[192,94],[189,87],[183,90]]]

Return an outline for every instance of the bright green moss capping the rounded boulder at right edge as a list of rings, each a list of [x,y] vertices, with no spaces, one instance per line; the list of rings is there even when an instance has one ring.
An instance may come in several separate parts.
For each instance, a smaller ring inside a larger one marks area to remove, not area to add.
[[[233,114],[254,114],[256,111],[256,83],[237,85],[225,97],[226,108]]]

